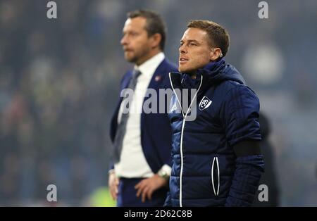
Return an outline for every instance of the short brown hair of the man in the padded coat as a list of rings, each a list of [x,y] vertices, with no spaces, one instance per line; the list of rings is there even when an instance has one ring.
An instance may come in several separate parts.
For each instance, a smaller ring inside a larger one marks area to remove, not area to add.
[[[187,27],[199,28],[206,31],[211,46],[220,48],[223,57],[227,54],[230,44],[229,34],[221,25],[210,20],[191,20]]]

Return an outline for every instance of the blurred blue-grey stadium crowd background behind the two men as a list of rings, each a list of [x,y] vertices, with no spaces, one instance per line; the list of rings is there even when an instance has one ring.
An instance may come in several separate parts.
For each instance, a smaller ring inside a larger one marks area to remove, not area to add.
[[[225,60],[271,123],[279,206],[317,206],[317,1],[267,1],[268,19],[253,0],[63,0],[57,19],[47,2],[0,0],[0,206],[51,206],[49,184],[58,206],[113,205],[108,128],[132,67],[120,37],[139,8],[161,13],[175,63],[189,20],[226,27]]]

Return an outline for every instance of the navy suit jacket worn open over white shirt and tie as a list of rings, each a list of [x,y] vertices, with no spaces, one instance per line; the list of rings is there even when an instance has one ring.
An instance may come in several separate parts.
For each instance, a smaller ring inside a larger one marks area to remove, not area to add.
[[[156,173],[164,165],[171,165],[171,144],[172,135],[170,130],[170,122],[168,120],[167,110],[169,101],[166,98],[165,113],[159,113],[159,89],[170,89],[170,80],[168,73],[177,70],[176,66],[170,63],[166,58],[156,68],[154,75],[149,83],[149,87],[156,91],[158,95],[157,113],[144,113],[141,114],[141,144],[144,156],[147,159],[151,170]],[[128,71],[121,80],[120,91],[128,87],[128,84],[132,77],[132,70]],[[149,98],[144,98],[144,102]],[[123,101],[122,97],[119,97],[118,104],[116,106],[115,113],[111,120],[110,137],[111,141],[114,141],[116,136],[116,129],[118,126],[118,112],[120,104]],[[113,167],[113,165],[111,165]]]

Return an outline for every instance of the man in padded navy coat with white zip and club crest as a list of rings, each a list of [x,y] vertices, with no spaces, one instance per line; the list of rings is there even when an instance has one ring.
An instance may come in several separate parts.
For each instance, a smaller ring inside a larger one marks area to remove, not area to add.
[[[173,166],[165,206],[254,201],[264,165],[259,99],[223,60],[228,46],[228,32],[208,20],[192,20],[180,41],[179,72],[170,73]]]

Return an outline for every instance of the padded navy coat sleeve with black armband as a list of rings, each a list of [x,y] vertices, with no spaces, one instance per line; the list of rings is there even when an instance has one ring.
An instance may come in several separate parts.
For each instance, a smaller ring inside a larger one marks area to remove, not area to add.
[[[231,89],[223,105],[223,123],[230,146],[235,151],[235,173],[225,206],[251,206],[264,172],[259,149],[259,99],[249,87]]]

